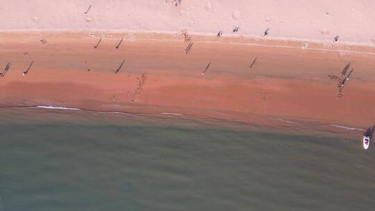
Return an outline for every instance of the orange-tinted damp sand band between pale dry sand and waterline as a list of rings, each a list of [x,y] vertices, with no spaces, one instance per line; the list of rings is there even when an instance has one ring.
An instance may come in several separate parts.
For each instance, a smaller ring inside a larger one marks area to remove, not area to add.
[[[186,55],[188,42],[177,35],[107,34],[94,49],[100,36],[2,33],[1,71],[8,62],[12,66],[0,78],[1,105],[176,112],[235,121],[270,115],[363,128],[375,122],[375,49],[194,37]],[[344,97],[337,99],[337,82],[327,74],[339,75],[347,62],[355,69]]]

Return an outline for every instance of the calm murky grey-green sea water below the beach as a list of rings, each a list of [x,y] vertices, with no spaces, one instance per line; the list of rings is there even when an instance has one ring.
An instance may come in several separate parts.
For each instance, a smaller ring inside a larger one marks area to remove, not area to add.
[[[5,112],[0,211],[375,206],[374,152],[351,138],[180,117]]]

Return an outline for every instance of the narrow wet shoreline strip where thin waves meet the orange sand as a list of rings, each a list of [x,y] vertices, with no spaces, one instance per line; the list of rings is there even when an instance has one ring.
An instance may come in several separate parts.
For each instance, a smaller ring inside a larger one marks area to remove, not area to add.
[[[53,105],[0,105],[2,117],[6,124],[84,124],[84,125],[122,125],[136,121],[138,124],[158,122],[158,126],[192,126],[194,128],[223,128],[229,130],[252,130],[258,133],[277,133],[285,135],[307,135],[341,137],[356,140],[365,130],[351,126],[329,124],[308,119],[294,119],[290,117],[275,117],[267,115],[247,115],[246,119],[231,119],[226,117],[200,116],[199,114],[183,114],[153,110],[152,112],[131,112],[115,110],[89,110],[85,108],[67,108]],[[35,116],[36,115],[36,116]],[[86,119],[90,117],[90,119]],[[125,117],[123,119],[122,117]],[[14,118],[14,119],[13,119]],[[285,119],[283,119],[285,118]],[[0,118],[2,119],[2,118]]]

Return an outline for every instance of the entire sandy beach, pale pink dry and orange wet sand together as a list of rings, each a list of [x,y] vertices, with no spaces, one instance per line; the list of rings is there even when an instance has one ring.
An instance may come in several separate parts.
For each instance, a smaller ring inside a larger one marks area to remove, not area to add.
[[[8,1],[0,101],[365,128],[375,121],[374,11],[367,0]],[[338,99],[328,74],[349,62]]]

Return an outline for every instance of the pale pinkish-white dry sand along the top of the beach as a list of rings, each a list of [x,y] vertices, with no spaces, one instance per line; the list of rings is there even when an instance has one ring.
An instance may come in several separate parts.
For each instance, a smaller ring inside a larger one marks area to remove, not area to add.
[[[84,12],[92,5],[88,14]],[[375,45],[374,0],[2,0],[0,31],[118,30],[263,34]]]

